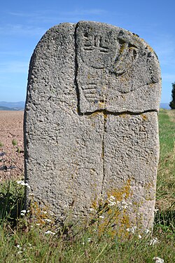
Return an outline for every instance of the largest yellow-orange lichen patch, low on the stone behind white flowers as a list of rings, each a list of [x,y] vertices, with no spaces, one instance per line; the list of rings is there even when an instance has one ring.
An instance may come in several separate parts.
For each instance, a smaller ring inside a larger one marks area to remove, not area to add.
[[[132,196],[130,180],[120,189],[113,189],[107,193],[106,200],[95,198],[91,208],[94,210],[93,222],[99,237],[104,234],[111,238],[127,238],[128,228],[131,227],[130,216],[127,211],[127,199]]]

